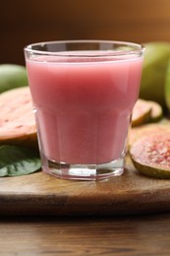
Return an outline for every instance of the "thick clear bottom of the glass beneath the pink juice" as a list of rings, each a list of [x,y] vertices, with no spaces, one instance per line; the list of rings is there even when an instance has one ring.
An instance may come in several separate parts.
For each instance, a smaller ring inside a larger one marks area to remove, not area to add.
[[[101,180],[124,172],[124,158],[101,164],[68,164],[45,160],[44,172],[62,179]]]

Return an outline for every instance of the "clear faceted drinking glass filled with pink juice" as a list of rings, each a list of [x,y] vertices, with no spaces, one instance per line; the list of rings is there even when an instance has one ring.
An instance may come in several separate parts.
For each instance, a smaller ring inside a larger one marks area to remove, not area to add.
[[[70,40],[25,48],[42,169],[66,179],[124,172],[144,48],[124,41]]]

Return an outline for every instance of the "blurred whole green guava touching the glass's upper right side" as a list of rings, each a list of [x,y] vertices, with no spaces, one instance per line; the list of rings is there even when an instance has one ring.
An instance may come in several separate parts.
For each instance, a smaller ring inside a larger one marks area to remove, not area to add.
[[[164,86],[170,43],[162,41],[147,42],[145,46],[140,97],[154,100],[165,107]]]

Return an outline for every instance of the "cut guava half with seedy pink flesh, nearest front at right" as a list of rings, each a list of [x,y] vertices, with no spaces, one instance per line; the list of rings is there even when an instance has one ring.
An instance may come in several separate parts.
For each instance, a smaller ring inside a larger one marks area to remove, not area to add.
[[[170,132],[142,136],[130,148],[135,167],[143,174],[170,178]]]

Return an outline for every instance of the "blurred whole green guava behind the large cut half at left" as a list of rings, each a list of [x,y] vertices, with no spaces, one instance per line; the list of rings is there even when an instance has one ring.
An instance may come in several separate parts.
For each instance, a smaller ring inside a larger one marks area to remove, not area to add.
[[[0,64],[0,94],[8,90],[28,86],[28,75],[25,66]]]

